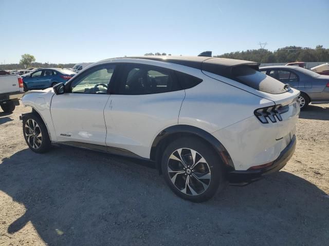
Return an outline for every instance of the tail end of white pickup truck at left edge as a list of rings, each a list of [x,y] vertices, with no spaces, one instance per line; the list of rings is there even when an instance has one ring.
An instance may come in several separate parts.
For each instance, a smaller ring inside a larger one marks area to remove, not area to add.
[[[20,75],[0,76],[0,106],[6,113],[12,112],[20,105],[20,97],[24,92],[23,79]]]

